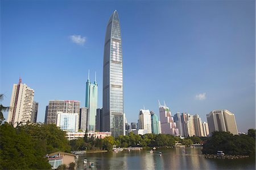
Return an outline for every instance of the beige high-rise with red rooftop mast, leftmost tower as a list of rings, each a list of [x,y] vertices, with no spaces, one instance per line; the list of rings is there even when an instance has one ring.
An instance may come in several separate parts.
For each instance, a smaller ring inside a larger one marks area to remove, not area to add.
[[[31,122],[34,93],[33,89],[26,84],[22,84],[22,79],[19,77],[19,83],[13,85],[10,102],[11,109],[7,118],[8,123],[16,127],[20,123]]]

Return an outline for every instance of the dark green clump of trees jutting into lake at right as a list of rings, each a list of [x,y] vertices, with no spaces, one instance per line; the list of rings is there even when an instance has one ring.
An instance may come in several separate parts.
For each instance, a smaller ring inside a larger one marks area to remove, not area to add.
[[[250,130],[250,132],[253,130]],[[230,132],[215,131],[206,140],[203,154],[216,154],[222,150],[228,155],[255,155],[255,138],[249,135],[233,135]]]

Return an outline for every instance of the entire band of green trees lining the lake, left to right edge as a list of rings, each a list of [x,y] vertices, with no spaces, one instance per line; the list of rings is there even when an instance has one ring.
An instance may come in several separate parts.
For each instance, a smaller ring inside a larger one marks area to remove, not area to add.
[[[248,135],[232,135],[229,132],[213,132],[209,138],[196,136],[180,139],[178,136],[165,134],[108,136],[104,139],[84,138],[68,140],[65,132],[53,124],[28,123],[13,127],[7,122],[0,125],[0,169],[51,169],[46,154],[62,151],[86,151],[87,153],[112,151],[117,148],[143,147],[143,149],[172,148],[176,144],[190,146],[203,143],[202,156],[207,158],[223,151],[230,159],[255,156],[255,129],[248,130]],[[238,156],[242,155],[242,156]],[[227,157],[227,156],[226,156]],[[225,158],[226,158],[225,157]],[[214,158],[214,156],[213,156]],[[228,157],[227,157],[228,159]]]

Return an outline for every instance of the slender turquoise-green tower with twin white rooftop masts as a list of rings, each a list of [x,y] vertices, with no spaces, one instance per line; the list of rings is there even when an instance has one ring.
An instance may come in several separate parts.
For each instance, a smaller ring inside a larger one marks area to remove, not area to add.
[[[90,82],[90,77],[88,73],[88,80],[86,82],[86,96],[85,96],[85,107],[89,109],[89,114],[87,115],[87,130],[95,131],[96,128],[96,112],[97,112],[97,102],[98,102],[98,85],[96,82],[96,73],[94,84]]]

